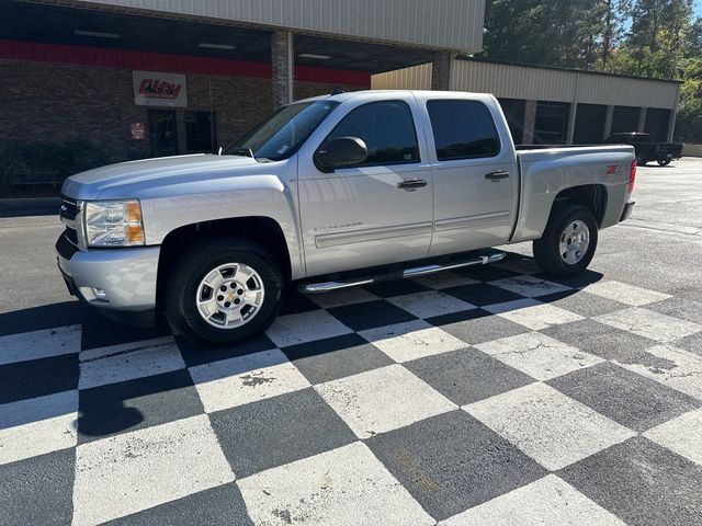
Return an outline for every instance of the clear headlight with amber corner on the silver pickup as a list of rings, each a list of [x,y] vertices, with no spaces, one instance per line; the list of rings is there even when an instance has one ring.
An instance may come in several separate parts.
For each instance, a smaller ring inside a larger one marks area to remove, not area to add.
[[[88,247],[144,244],[141,206],[138,201],[87,202],[84,217]]]

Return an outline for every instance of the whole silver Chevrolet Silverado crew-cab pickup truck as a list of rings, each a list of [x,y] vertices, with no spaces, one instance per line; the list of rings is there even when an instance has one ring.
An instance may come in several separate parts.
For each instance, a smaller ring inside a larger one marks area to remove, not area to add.
[[[219,155],[113,164],[63,187],[71,294],[193,340],[263,330],[286,287],[324,293],[499,261],[590,263],[626,219],[631,146],[516,148],[488,94],[363,91],[283,106]]]

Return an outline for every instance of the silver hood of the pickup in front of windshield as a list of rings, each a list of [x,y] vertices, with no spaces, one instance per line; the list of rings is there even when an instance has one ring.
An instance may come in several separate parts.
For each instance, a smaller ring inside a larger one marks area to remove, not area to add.
[[[250,157],[212,153],[141,159],[71,175],[64,182],[61,193],[76,199],[139,197],[155,187],[165,190],[190,182],[247,175],[256,165],[259,163]]]

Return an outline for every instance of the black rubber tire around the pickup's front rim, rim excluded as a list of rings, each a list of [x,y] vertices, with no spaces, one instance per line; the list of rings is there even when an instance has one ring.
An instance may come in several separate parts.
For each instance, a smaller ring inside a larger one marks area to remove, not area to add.
[[[245,264],[263,284],[263,301],[241,327],[219,329],[197,311],[195,297],[202,279],[219,265]],[[284,281],[274,259],[260,245],[241,238],[216,237],[191,247],[173,265],[165,285],[165,311],[171,328],[196,343],[229,345],[263,332],[275,319]]]

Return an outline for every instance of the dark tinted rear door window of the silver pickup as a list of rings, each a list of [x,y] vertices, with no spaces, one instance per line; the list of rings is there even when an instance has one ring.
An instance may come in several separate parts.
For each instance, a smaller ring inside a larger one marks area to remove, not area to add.
[[[432,100],[427,103],[437,146],[437,159],[495,157],[500,139],[485,104],[478,101]]]

